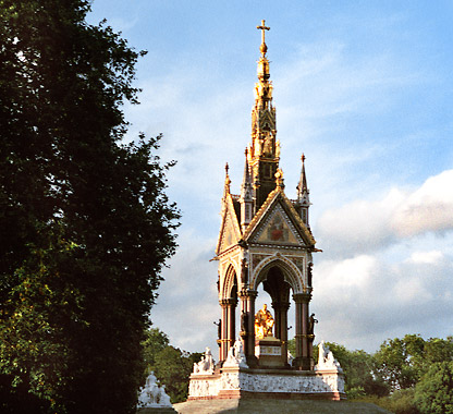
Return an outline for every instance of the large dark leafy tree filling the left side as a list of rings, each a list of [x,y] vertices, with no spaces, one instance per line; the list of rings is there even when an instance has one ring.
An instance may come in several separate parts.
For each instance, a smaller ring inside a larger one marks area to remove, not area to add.
[[[127,413],[179,214],[123,145],[142,52],[86,0],[0,1],[0,411]]]

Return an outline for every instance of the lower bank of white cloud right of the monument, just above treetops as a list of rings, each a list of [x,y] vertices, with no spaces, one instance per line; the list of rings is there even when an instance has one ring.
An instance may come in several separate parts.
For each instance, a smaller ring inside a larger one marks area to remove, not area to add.
[[[372,352],[405,333],[452,333],[453,259],[437,251],[392,264],[384,253],[320,261],[314,283],[317,340]]]

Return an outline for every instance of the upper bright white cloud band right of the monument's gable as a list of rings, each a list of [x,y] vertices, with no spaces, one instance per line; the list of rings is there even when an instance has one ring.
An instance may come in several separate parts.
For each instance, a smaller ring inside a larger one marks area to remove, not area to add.
[[[322,214],[316,223],[331,254],[374,252],[427,232],[453,230],[453,170],[431,176],[415,191],[392,188],[381,199],[355,200]]]

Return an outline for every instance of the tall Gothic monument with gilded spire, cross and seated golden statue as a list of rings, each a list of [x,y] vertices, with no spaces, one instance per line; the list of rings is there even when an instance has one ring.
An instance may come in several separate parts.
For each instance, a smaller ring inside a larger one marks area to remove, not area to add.
[[[344,398],[343,373],[329,349],[321,342],[315,366],[313,343],[311,254],[315,247],[308,209],[309,191],[305,157],[296,199],[284,193],[279,167],[272,82],[266,56],[265,21],[258,82],[252,110],[252,143],[245,150],[241,194],[230,192],[226,176],[222,197],[222,223],[216,249],[219,261],[219,363],[207,349],[191,376],[189,400],[267,397],[283,399]],[[255,309],[258,287],[271,297]],[[295,355],[287,352],[287,310],[295,306]],[[240,320],[236,337],[236,313]],[[272,316],[273,314],[273,316]]]

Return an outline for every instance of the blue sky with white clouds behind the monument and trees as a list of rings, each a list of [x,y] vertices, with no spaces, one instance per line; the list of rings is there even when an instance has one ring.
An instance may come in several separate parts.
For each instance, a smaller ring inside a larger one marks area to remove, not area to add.
[[[295,198],[304,153],[322,249],[315,343],[375,352],[406,333],[453,334],[453,2],[95,0],[88,19],[148,51],[125,141],[162,133],[160,157],[177,161],[179,248],[151,309],[171,344],[217,349],[209,260],[226,161],[240,193],[264,19],[285,193]]]

